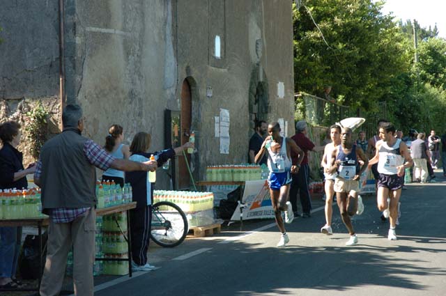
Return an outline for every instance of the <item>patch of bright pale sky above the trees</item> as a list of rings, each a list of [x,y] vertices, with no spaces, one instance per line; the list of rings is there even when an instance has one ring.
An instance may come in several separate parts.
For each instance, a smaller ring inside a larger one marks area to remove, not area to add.
[[[384,14],[393,12],[395,20],[417,20],[421,27],[437,24],[438,36],[446,38],[446,0],[387,0],[381,10]]]

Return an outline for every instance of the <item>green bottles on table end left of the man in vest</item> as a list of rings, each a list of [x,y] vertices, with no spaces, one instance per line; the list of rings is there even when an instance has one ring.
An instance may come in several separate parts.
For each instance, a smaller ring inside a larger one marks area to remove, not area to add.
[[[42,214],[40,188],[0,190],[0,219],[47,217]]]

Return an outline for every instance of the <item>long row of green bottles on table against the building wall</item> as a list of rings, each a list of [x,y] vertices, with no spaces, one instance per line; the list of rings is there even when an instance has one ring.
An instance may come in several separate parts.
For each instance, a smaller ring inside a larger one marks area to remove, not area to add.
[[[206,167],[206,180],[210,182],[244,182],[262,178],[262,168],[256,164],[226,164]]]

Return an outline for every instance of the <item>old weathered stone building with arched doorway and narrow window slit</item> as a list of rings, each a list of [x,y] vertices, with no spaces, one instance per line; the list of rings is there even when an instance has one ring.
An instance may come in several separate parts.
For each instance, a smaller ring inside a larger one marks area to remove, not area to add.
[[[102,144],[118,123],[128,142],[151,133],[151,150],[193,130],[203,180],[206,165],[247,162],[254,119],[293,134],[291,13],[289,0],[2,1],[1,120],[40,100],[55,133],[61,104],[77,103],[87,137]],[[169,186],[165,171],[157,180]],[[189,187],[183,157],[174,180]]]

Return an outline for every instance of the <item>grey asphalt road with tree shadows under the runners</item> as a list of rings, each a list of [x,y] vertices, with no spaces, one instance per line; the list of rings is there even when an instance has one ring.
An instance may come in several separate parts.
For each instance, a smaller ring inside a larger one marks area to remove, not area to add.
[[[233,224],[220,235],[186,240],[174,249],[151,244],[149,262],[160,266],[129,279],[102,278],[95,295],[446,295],[446,179],[403,191],[397,241],[387,240],[375,196],[348,233],[334,206],[334,235],[319,233],[323,210],[287,226],[288,247],[277,249],[272,220]],[[323,205],[314,201],[314,208]]]

